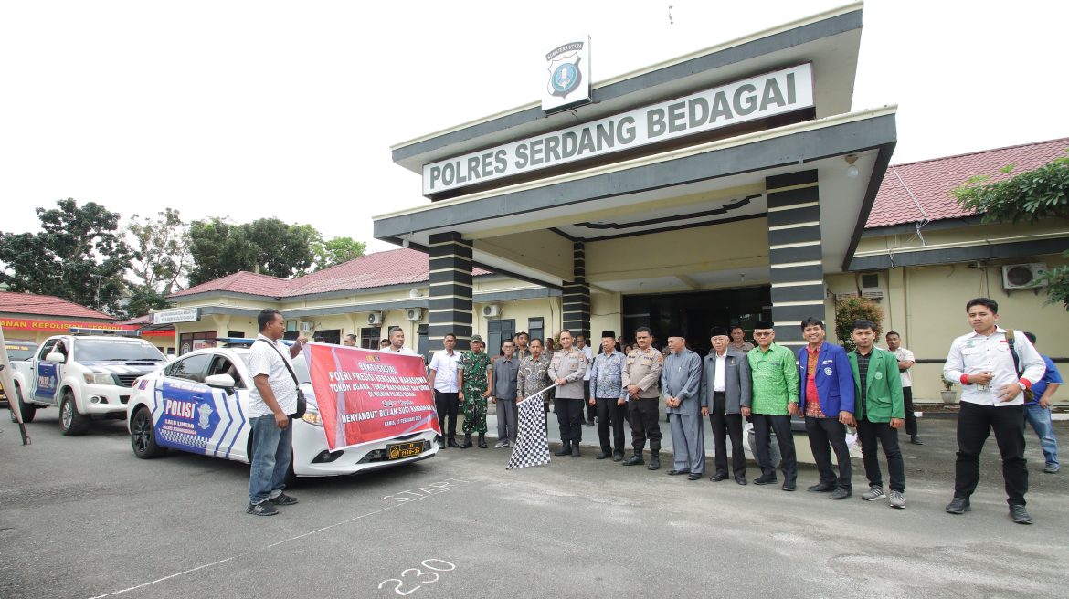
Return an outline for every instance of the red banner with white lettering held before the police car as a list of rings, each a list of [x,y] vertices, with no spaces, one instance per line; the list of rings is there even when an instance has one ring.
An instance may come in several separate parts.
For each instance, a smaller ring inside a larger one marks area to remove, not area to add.
[[[419,356],[309,343],[305,359],[330,451],[423,430],[441,434]]]

